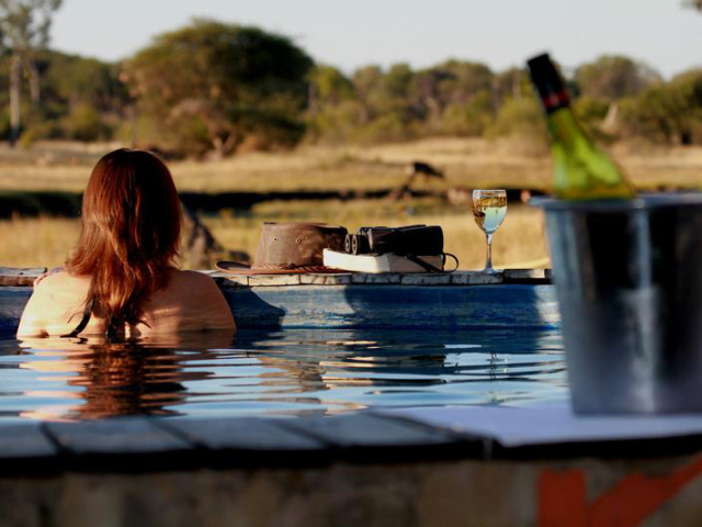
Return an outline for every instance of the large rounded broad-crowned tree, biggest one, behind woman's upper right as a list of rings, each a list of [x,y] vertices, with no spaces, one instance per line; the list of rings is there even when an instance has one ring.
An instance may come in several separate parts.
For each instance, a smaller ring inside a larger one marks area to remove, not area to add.
[[[309,56],[287,37],[196,19],[157,36],[123,78],[160,143],[225,156],[247,137],[290,145],[304,132]]]

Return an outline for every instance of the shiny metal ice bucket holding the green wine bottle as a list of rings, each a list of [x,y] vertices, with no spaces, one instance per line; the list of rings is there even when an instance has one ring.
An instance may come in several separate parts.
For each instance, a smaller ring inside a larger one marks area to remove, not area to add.
[[[535,204],[574,410],[702,412],[702,194]]]

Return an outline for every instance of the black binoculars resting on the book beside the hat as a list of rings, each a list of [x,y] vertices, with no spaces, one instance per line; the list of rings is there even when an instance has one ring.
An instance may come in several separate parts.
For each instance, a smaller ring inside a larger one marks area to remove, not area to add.
[[[443,231],[438,225],[406,227],[361,227],[347,234],[343,244],[350,255],[443,255]]]

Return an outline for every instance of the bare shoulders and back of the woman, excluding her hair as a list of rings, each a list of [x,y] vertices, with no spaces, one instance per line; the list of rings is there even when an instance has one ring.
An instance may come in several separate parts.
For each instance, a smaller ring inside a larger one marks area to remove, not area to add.
[[[61,336],[81,322],[90,277],[66,271],[42,280],[30,299],[18,336]],[[170,271],[167,285],[155,291],[143,304],[143,323],[125,325],[126,337],[155,336],[204,329],[233,329],[234,318],[214,281],[196,271]],[[107,318],[93,310],[81,335],[105,334]]]

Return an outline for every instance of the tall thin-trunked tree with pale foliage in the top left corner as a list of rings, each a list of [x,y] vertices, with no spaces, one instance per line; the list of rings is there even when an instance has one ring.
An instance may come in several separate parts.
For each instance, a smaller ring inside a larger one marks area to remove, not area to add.
[[[52,15],[61,0],[0,0],[0,45],[10,51],[10,145],[20,137],[22,74],[30,78],[32,102],[39,101],[39,75],[33,54],[48,44]]]

